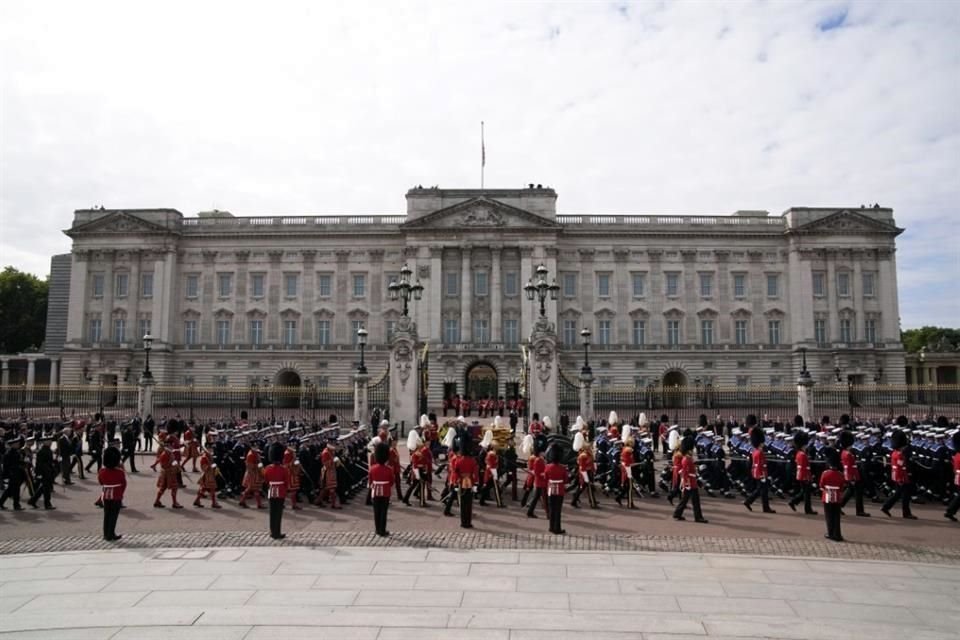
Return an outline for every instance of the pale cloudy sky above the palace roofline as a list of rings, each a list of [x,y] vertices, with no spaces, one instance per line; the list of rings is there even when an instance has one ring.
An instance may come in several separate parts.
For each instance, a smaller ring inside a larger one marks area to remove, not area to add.
[[[903,328],[960,326],[960,2],[0,3],[0,266],[73,211],[892,207]]]

